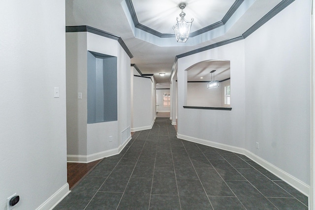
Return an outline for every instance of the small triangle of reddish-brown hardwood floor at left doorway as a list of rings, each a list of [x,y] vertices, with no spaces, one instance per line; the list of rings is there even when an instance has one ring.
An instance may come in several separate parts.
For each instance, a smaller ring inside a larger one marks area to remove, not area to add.
[[[67,180],[70,190],[82,179],[89,171],[99,163],[100,160],[95,160],[91,163],[67,163]]]

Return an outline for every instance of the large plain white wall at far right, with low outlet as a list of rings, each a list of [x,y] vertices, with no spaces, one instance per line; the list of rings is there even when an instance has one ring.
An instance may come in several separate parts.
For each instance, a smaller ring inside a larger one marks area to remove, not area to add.
[[[310,184],[310,8],[308,0],[294,1],[245,39],[246,149],[306,184]]]

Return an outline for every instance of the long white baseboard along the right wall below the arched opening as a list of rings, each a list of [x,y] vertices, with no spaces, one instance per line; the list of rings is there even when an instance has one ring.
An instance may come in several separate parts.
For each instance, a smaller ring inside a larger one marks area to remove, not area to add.
[[[289,185],[291,185],[292,187],[294,187],[295,189],[297,189],[298,191],[300,191],[304,195],[309,196],[309,194],[310,194],[310,186],[308,184],[304,183],[301,180],[296,179],[295,177],[286,173],[282,169],[274,166],[273,164],[267,162],[266,160],[262,159],[261,157],[255,155],[254,153],[252,153],[249,150],[221,144],[218,142],[212,142],[212,141],[208,141],[208,140],[204,140],[204,139],[198,139],[198,138],[194,138],[194,137],[190,137],[190,136],[186,136],[186,135],[181,135],[181,134],[177,134],[177,138],[187,140],[190,142],[194,142],[194,143],[198,143],[198,144],[202,144],[202,145],[206,145],[206,146],[210,146],[210,147],[214,147],[214,148],[218,148],[221,150],[227,150],[227,151],[232,151],[232,152],[239,153],[239,154],[244,154],[245,156],[251,158],[258,165],[262,166],[263,168],[268,170],[270,173],[272,173],[272,174],[276,175],[277,177],[279,177],[280,179],[284,180],[285,182],[287,182]]]

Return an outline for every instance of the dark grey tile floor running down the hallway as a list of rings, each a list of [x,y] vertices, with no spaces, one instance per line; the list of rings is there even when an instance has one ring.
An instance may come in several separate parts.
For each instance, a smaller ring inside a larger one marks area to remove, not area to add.
[[[248,157],[176,138],[167,118],[103,159],[55,210],[307,210],[308,198]]]

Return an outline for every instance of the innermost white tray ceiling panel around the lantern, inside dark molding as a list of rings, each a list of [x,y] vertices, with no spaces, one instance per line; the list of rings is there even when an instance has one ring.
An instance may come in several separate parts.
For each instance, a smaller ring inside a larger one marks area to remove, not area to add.
[[[190,32],[221,21],[235,0],[186,0],[185,19],[194,19]],[[160,33],[174,33],[180,0],[132,0],[138,22]]]

